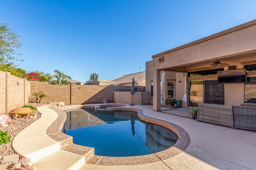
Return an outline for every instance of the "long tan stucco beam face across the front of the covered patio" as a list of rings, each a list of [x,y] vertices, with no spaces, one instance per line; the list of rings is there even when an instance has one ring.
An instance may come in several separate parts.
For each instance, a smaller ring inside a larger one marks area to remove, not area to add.
[[[256,24],[256,20],[254,20],[254,22],[251,24]],[[196,63],[204,60],[219,59],[222,57],[244,54],[248,51],[254,52],[256,44],[256,25],[246,27],[245,24],[239,26],[241,27],[239,30],[237,30],[238,28],[231,28],[192,43],[177,47],[170,50],[170,52],[166,51],[152,56],[155,67],[154,70],[162,70],[162,68],[172,66],[181,66],[188,63]],[[235,29],[236,31],[230,32],[232,29]],[[230,33],[224,34],[226,32]],[[163,63],[159,63],[157,61],[158,56],[161,55],[164,55]]]

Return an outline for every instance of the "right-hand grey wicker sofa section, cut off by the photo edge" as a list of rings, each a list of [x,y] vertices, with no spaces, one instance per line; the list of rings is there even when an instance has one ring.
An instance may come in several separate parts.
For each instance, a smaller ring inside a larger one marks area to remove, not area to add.
[[[256,130],[256,107],[233,106],[234,129]]]

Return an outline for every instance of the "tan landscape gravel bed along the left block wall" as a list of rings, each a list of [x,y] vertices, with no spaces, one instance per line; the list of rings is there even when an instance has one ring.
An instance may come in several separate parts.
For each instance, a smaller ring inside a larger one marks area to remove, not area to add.
[[[43,106],[44,104],[46,104],[46,102],[41,102],[41,103],[29,102],[27,105],[33,106],[33,107],[40,107],[40,106]],[[36,115],[36,119],[34,117],[28,119],[27,116],[24,116],[24,117],[18,116],[17,119],[12,119],[12,123],[9,124],[8,126],[6,126],[6,127],[0,126],[0,130],[4,131],[4,132],[8,132],[8,136],[10,137],[10,142],[8,142],[6,144],[3,143],[2,145],[0,145],[0,161],[4,158],[4,156],[11,155],[11,154],[15,153],[15,151],[12,149],[12,141],[13,141],[14,137],[18,133],[20,133],[20,131],[25,129],[28,125],[30,125],[34,121],[38,120],[41,117],[41,115],[38,113],[39,113],[39,111],[36,110],[32,114],[33,116]]]

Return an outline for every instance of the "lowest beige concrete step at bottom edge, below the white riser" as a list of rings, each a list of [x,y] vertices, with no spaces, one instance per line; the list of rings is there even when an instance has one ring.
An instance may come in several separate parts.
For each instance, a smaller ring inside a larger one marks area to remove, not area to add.
[[[58,150],[33,162],[38,170],[78,170],[85,164],[85,156]]]

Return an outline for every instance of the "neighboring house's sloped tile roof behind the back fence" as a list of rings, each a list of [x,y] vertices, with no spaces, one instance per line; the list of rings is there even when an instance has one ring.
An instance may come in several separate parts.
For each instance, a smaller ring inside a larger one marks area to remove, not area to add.
[[[115,82],[114,85],[120,85],[124,83],[132,83],[132,78],[134,78],[136,83],[141,82],[146,79],[146,71],[124,75],[112,81]]]

